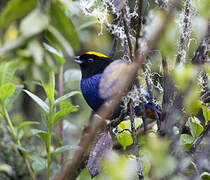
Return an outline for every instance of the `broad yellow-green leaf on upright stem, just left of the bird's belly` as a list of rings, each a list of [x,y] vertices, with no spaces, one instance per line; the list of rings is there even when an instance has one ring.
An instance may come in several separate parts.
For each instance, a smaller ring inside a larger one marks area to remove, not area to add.
[[[65,115],[77,111],[78,108],[76,106],[73,106],[72,104],[68,102],[64,102],[60,105],[60,111],[54,114],[52,121],[50,124],[53,126],[59,119],[64,117]]]

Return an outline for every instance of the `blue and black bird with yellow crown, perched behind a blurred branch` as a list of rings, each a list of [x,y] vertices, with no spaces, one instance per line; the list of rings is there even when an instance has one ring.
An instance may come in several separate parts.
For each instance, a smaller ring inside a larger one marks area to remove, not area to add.
[[[87,51],[80,56],[76,56],[74,61],[79,64],[82,79],[80,82],[80,87],[82,95],[86,100],[87,104],[92,108],[94,112],[97,112],[99,108],[104,104],[108,99],[100,94],[100,82],[103,79],[103,76],[107,70],[110,69],[113,64],[116,64],[116,60],[112,60],[103,53],[95,51]],[[119,60],[118,60],[119,61]],[[125,62],[124,62],[125,63]],[[122,64],[122,61],[119,61],[117,67]],[[103,81],[103,83],[109,83],[108,81]],[[145,97],[150,98],[148,92],[144,90]],[[160,111],[151,103],[144,105],[146,117],[154,119],[155,111],[160,114]],[[119,116],[122,110],[121,105],[119,104],[116,112],[112,114],[111,119],[114,119]],[[140,107],[135,107],[135,114],[140,114]]]

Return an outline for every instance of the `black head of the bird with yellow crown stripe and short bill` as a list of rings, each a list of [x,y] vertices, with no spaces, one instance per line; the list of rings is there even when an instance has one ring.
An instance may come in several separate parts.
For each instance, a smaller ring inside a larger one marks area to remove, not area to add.
[[[104,69],[113,62],[106,55],[93,51],[75,57],[74,61],[80,65],[82,78],[103,73]]]

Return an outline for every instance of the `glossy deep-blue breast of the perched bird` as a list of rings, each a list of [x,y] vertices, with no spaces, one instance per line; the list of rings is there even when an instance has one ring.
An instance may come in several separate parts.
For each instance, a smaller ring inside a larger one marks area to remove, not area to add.
[[[96,74],[81,80],[81,90],[87,104],[96,112],[105,99],[99,96],[99,83],[102,74]]]

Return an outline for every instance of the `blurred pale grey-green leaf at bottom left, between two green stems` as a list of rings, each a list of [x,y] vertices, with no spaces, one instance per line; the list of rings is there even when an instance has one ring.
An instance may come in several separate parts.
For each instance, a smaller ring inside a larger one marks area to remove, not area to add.
[[[36,173],[39,173],[47,168],[47,160],[38,154],[29,155],[29,159],[31,161],[32,168]]]

